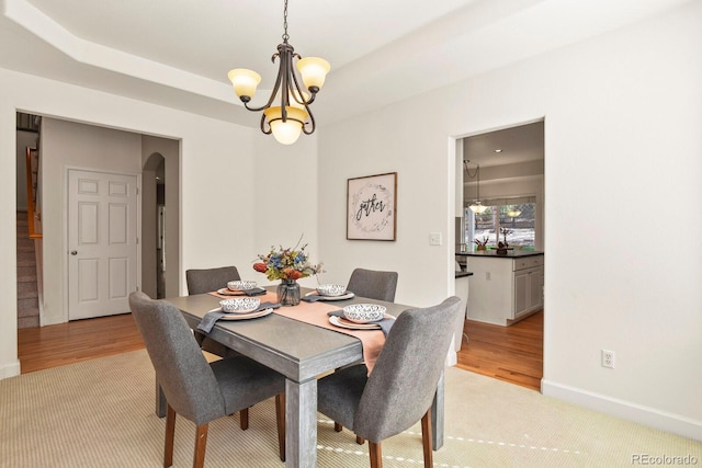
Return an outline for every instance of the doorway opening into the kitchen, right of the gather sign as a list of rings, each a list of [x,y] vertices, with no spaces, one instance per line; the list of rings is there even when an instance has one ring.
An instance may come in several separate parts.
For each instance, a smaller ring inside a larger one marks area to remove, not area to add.
[[[534,275],[520,275],[517,286],[510,282],[518,272],[508,272],[502,278],[507,287],[497,288],[499,304],[484,296],[500,279],[485,263],[512,261],[489,260],[497,253],[490,249],[501,244],[509,248],[510,256],[544,253],[544,159],[543,118],[456,139],[455,168],[463,170],[456,174],[455,199],[461,204],[455,210],[456,262],[462,270],[478,272],[469,279],[464,328],[467,340],[458,354],[458,366],[536,390],[541,389],[543,377],[543,262],[533,269]],[[479,182],[475,176],[478,167]],[[471,205],[488,208],[474,213]],[[487,250],[480,248],[478,251],[480,244]],[[473,265],[471,259],[474,259]],[[541,270],[536,272],[537,269]],[[521,287],[524,277],[530,277],[536,286]],[[535,303],[530,304],[539,304],[539,307],[520,315],[521,309],[516,308],[525,301],[521,298],[522,289],[529,289],[524,294],[537,295],[532,298]],[[483,306],[473,307],[472,313],[471,303],[475,306],[476,301],[487,304],[498,320],[486,316],[484,310],[476,312],[485,308]],[[521,340],[524,345],[522,349],[505,346],[507,340]]]

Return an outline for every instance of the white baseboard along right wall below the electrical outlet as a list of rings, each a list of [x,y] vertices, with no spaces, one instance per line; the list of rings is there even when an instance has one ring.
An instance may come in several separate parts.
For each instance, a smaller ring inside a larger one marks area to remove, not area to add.
[[[680,414],[660,411],[546,379],[541,380],[541,392],[547,397],[601,411],[649,427],[702,441],[702,421]]]

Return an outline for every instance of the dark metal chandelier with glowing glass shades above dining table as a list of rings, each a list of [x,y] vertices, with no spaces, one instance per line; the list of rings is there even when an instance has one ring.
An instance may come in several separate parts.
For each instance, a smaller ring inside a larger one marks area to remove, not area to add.
[[[315,132],[315,117],[309,110],[309,104],[315,101],[317,92],[325,83],[325,77],[329,72],[329,62],[318,57],[302,58],[295,54],[295,49],[287,43],[287,0],[283,10],[283,43],[278,45],[278,52],[271,57],[275,62],[278,58],[280,68],[278,78],[265,105],[261,107],[250,107],[249,102],[256,93],[256,87],[261,82],[261,76],[256,71],[245,68],[237,68],[227,75],[234,91],[237,93],[244,106],[249,111],[260,112],[261,132],[265,135],[273,134],[273,137],[283,145],[292,145],[297,141],[299,134],[309,135]],[[299,85],[297,73],[293,69],[293,61],[302,76],[305,85],[303,90]],[[307,93],[306,91],[309,91]],[[280,105],[273,102],[280,99]]]

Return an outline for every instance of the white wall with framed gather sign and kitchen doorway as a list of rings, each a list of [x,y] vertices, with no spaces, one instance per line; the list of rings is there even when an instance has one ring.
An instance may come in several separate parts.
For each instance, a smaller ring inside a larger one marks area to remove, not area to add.
[[[356,265],[396,270],[397,301],[444,298],[453,272],[450,137],[545,117],[543,390],[702,440],[699,24],[702,2],[690,2],[325,127],[319,239],[335,281]],[[347,179],[390,171],[397,241],[347,241]],[[681,224],[663,226],[664,216]],[[430,231],[443,232],[442,248],[429,246]],[[615,369],[600,366],[601,349],[616,353]]]

